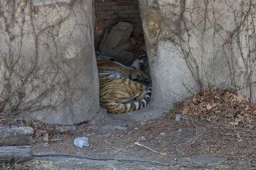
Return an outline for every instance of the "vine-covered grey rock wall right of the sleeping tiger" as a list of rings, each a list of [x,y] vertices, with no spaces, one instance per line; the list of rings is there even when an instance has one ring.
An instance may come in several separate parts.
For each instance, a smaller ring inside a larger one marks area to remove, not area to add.
[[[255,101],[254,6],[241,0],[139,0],[151,105],[170,108],[206,85],[241,87]]]

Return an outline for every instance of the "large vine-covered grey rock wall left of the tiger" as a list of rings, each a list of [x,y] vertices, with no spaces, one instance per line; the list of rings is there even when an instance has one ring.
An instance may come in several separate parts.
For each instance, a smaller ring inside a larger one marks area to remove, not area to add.
[[[93,8],[93,0],[0,2],[1,115],[78,124],[99,111]]]

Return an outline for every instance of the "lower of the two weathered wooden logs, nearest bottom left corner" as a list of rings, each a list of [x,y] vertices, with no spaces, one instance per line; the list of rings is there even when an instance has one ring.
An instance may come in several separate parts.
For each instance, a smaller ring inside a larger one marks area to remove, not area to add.
[[[0,163],[9,163],[12,155],[14,162],[33,159],[31,146],[0,146]]]

